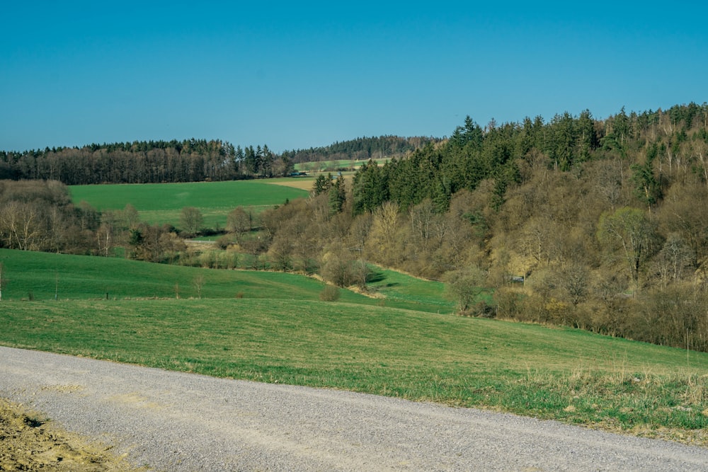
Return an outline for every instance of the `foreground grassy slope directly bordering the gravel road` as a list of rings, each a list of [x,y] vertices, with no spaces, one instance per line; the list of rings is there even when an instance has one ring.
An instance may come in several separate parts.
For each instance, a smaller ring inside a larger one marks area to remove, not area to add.
[[[708,444],[708,356],[567,328],[285,299],[2,302],[0,343],[484,406]]]

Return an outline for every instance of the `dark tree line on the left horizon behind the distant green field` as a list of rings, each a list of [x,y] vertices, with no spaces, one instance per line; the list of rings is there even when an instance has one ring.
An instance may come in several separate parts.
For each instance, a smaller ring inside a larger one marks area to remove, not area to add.
[[[0,151],[0,179],[58,180],[65,185],[265,178],[287,175],[292,166],[268,145],[241,148],[205,139]]]

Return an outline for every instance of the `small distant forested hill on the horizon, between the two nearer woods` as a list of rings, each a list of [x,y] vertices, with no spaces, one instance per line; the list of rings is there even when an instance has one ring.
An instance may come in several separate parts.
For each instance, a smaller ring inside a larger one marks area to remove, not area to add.
[[[284,151],[282,156],[293,163],[337,160],[368,161],[369,159],[400,158],[428,143],[436,142],[440,142],[440,139],[398,136],[360,137],[349,141],[335,142],[329,146]]]

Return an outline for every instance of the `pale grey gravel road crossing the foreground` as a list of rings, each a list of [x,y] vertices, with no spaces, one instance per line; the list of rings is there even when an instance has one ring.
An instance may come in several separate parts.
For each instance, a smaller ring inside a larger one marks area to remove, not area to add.
[[[0,347],[0,396],[158,471],[705,471],[708,449]]]

